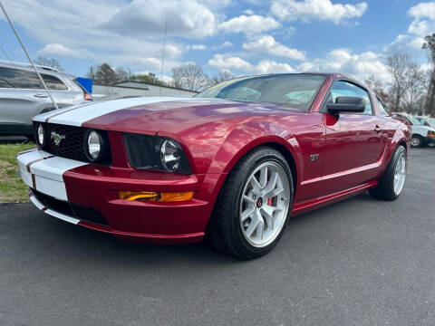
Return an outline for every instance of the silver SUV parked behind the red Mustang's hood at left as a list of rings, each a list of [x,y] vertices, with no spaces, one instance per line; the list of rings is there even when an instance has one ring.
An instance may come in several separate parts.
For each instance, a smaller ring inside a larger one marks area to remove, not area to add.
[[[59,108],[92,101],[72,75],[36,66]],[[0,62],[0,136],[33,136],[32,117],[55,110],[30,64]]]

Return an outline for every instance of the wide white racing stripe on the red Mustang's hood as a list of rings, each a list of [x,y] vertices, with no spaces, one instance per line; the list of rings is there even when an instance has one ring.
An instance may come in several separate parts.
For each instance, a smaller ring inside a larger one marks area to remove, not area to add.
[[[65,124],[70,126],[80,127],[86,121],[101,117],[104,114],[115,112],[117,110],[128,109],[143,104],[158,103],[163,101],[186,101],[189,98],[176,98],[176,97],[140,97],[129,99],[118,99],[111,101],[95,102],[91,105],[78,106],[76,109],[71,110],[73,107],[66,108],[65,112],[53,111],[53,118],[48,118],[50,123]],[[61,113],[61,114],[59,114]],[[50,115],[49,115],[50,116]],[[43,122],[47,115],[39,115],[34,118],[34,121]]]

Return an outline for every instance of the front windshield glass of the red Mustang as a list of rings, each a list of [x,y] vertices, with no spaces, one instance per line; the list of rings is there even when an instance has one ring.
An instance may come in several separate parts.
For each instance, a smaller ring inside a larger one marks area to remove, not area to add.
[[[195,97],[269,102],[299,110],[310,110],[324,80],[323,75],[299,73],[241,77],[220,82]]]

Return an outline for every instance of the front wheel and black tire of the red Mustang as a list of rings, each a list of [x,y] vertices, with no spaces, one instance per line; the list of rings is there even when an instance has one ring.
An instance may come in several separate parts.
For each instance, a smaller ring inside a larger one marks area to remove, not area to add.
[[[293,194],[292,173],[281,153],[266,147],[249,152],[219,193],[208,225],[211,245],[239,259],[267,254],[283,235]]]

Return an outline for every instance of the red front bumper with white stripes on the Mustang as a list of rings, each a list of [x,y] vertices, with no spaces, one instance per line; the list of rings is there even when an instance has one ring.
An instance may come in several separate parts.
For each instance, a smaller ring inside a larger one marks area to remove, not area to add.
[[[38,149],[20,153],[17,160],[24,183],[34,191],[31,201],[46,214],[122,240],[191,243],[204,236],[212,210],[207,175],[108,168],[53,157]],[[139,202],[121,199],[121,190],[194,191],[195,195],[185,202]],[[66,208],[57,208],[60,206]],[[96,223],[75,206],[98,211],[105,223]]]

